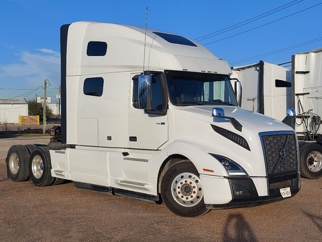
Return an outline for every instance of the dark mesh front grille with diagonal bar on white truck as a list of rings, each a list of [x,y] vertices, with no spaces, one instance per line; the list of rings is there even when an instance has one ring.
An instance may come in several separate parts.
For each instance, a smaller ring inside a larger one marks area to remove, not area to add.
[[[295,134],[261,134],[268,176],[297,172]]]

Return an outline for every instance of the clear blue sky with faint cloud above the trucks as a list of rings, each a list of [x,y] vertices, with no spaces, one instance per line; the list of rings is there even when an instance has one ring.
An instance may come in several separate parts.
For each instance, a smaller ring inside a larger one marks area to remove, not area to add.
[[[48,79],[55,102],[60,27],[74,21],[144,27],[147,7],[148,28],[195,39],[231,66],[279,64],[322,48],[321,0],[1,0],[0,98],[41,97]]]

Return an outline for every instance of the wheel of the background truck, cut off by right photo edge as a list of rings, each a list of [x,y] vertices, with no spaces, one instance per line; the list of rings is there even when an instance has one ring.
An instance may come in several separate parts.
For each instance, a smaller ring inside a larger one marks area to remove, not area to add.
[[[305,143],[299,148],[301,176],[307,179],[322,177],[322,145]]]

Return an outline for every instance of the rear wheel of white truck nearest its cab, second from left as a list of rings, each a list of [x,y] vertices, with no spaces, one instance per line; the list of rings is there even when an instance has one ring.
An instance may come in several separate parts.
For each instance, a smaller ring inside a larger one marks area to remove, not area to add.
[[[39,146],[30,154],[29,160],[30,179],[39,187],[45,187],[54,183],[51,175],[52,164],[50,163],[50,152],[47,146]]]

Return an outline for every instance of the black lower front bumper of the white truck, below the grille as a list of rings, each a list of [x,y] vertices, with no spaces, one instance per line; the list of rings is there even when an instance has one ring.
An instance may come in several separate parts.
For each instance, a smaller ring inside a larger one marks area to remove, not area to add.
[[[267,192],[264,196],[259,195],[259,192],[257,192],[259,188],[256,187],[254,180],[251,178],[226,179],[228,180],[230,187],[230,201],[228,203],[222,204],[208,204],[207,201],[205,201],[206,208],[220,209],[252,207],[255,205],[261,205],[285,199],[281,196],[281,188],[290,188],[291,196],[289,196],[288,198],[297,194],[297,192],[299,192],[300,189],[299,172],[266,177],[265,186]],[[217,196],[220,196],[220,194],[217,194]]]

